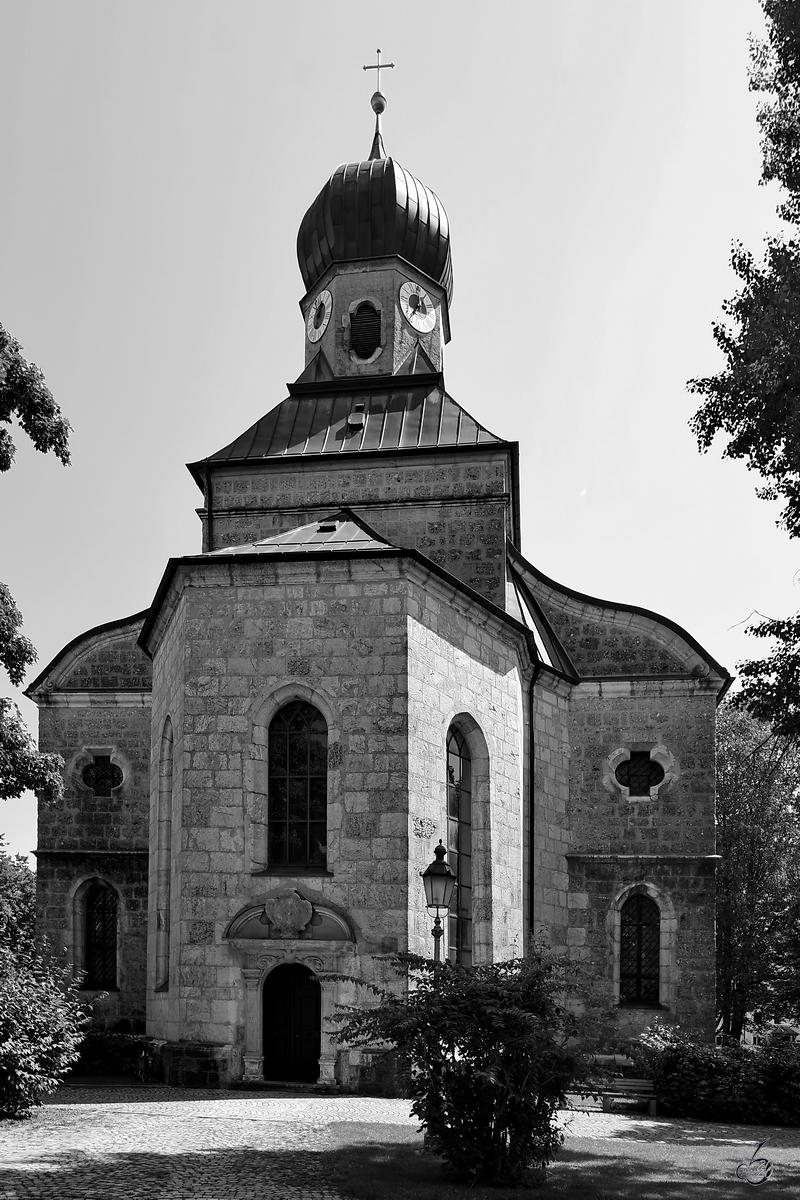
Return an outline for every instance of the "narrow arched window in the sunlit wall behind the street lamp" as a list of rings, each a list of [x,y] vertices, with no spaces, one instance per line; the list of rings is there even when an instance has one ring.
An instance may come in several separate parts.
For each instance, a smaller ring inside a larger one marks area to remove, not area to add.
[[[456,876],[450,904],[451,962],[473,965],[473,763],[457,728],[447,734],[447,862]]]

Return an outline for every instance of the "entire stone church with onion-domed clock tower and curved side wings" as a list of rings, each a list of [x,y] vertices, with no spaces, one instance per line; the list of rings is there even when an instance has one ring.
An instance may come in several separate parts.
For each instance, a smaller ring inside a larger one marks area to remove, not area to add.
[[[445,389],[447,216],[386,157],[384,106],[300,224],[296,382],[188,464],[200,552],[26,691],[66,763],[38,930],[170,1082],[356,1084],[369,1055],[331,1038],[356,989],[331,977],[432,954],[439,840],[452,962],[545,934],[620,1036],[714,1034],[729,676],[523,556],[517,443]]]

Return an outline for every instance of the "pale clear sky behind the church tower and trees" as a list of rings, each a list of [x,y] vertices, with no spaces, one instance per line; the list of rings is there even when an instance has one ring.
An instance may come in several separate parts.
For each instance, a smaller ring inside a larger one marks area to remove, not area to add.
[[[74,431],[68,469],[19,434],[0,476],[38,668],[200,550],[185,463],[300,374],[296,232],[368,155],[378,46],[387,154],[450,217],[446,386],[521,444],[523,553],[732,672],[759,653],[744,629],[800,606],[798,548],[742,463],[698,452],[686,382],[721,366],[732,242],[780,228],[762,31],[757,0],[0,0],[0,322]],[[0,832],[32,850],[31,797]]]

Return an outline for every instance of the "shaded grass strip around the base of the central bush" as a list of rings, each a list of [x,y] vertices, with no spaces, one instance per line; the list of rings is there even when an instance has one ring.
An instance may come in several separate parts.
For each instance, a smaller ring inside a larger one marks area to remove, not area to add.
[[[750,1157],[742,1146],[570,1138],[543,1182],[470,1187],[447,1180],[441,1162],[423,1152],[422,1136],[409,1127],[339,1122],[330,1128],[338,1146],[325,1154],[326,1168],[348,1200],[729,1200],[746,1188],[735,1169]],[[796,1166],[776,1162],[775,1170],[770,1196],[796,1198]]]

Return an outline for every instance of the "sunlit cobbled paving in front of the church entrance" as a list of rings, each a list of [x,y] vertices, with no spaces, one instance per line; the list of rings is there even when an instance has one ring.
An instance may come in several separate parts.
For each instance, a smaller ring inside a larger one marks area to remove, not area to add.
[[[639,1114],[564,1112],[565,1150],[602,1141],[661,1142],[664,1156],[703,1147],[747,1162],[757,1144],[775,1182],[796,1180],[800,1129],[763,1129]],[[415,1142],[408,1100],[180,1091],[168,1087],[62,1088],[26,1122],[0,1124],[2,1200],[338,1200],[324,1156],[348,1129]],[[630,1147],[632,1150],[632,1147]],[[734,1168],[735,1170],[735,1168]],[[766,1194],[770,1187],[768,1181]],[[732,1194],[742,1183],[730,1180]],[[782,1193],[782,1188],[781,1188]],[[793,1192],[794,1194],[794,1192]]]

